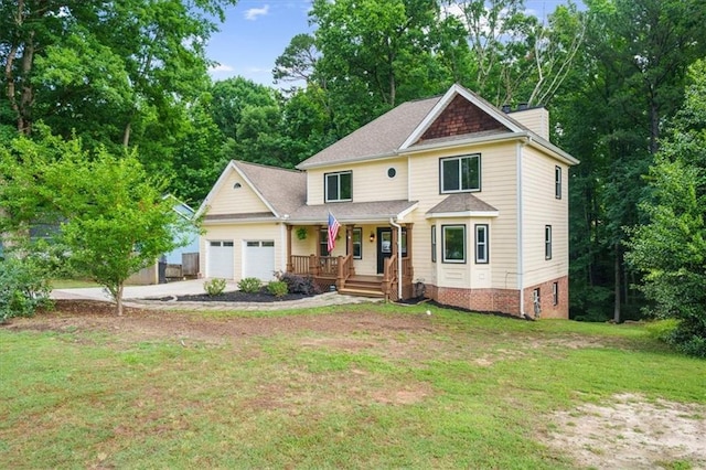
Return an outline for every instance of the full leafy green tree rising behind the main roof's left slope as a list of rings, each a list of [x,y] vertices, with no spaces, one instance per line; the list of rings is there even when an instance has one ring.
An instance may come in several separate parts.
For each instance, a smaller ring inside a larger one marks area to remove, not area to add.
[[[441,41],[435,0],[314,0],[310,18],[321,53],[314,76],[339,137],[451,83],[439,57],[459,43]]]

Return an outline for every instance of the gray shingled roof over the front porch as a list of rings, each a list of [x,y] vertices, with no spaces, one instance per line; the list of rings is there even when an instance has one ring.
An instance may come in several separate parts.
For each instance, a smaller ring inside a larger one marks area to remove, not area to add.
[[[306,205],[289,214],[289,223],[327,225],[329,212],[341,224],[402,221],[417,207],[417,201],[338,202],[334,204]]]

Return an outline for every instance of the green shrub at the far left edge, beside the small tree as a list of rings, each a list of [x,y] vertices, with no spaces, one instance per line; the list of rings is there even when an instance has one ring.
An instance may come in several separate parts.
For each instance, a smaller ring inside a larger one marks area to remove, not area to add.
[[[0,261],[0,323],[13,317],[31,317],[40,307],[50,307],[46,276],[31,257],[8,256]]]

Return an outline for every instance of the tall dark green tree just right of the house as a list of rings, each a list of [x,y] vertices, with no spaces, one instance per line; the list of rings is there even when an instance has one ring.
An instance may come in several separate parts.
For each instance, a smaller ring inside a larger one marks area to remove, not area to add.
[[[629,288],[640,279],[623,261],[623,227],[640,222],[635,206],[646,195],[643,177],[659,149],[660,126],[682,102],[686,67],[706,52],[699,3],[586,1],[585,54],[555,114],[559,142],[582,161],[574,181],[584,193],[575,193],[573,212],[589,218],[573,218],[571,233],[582,242],[571,245],[571,257],[590,260],[584,291],[599,293],[582,302],[606,299],[611,289],[616,321],[625,301],[635,309],[639,300]],[[602,305],[603,313],[609,307]]]

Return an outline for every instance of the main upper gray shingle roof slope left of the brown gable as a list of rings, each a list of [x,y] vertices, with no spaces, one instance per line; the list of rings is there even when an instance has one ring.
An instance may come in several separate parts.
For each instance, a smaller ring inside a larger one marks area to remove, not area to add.
[[[366,124],[338,142],[327,147],[297,168],[335,164],[370,157],[393,154],[405,139],[421,124],[440,96],[403,103],[377,119]]]

